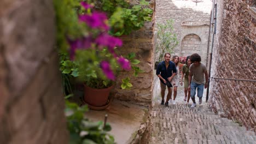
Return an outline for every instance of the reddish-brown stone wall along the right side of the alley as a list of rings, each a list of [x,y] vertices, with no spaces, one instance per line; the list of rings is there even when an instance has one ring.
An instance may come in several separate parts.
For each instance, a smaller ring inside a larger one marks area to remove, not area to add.
[[[211,77],[250,81],[210,82],[209,104],[256,131],[255,1],[218,1]]]

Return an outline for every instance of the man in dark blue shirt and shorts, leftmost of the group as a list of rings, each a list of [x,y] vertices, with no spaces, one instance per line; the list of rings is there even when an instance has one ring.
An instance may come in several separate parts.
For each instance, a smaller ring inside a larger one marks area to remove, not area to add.
[[[173,76],[176,75],[177,69],[173,62],[170,61],[171,54],[165,53],[165,61],[162,61],[158,64],[158,67],[156,68],[156,75],[158,75],[160,79],[160,86],[161,86],[161,105],[168,106],[168,100],[170,100],[172,95],[172,85],[171,80]],[[165,89],[168,89],[167,98],[165,101]]]

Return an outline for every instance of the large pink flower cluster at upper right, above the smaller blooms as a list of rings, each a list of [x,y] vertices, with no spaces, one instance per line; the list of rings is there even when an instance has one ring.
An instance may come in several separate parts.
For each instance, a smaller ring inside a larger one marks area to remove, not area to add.
[[[112,37],[108,35],[107,33],[102,33],[101,35],[98,35],[98,37],[95,40],[95,43],[98,46],[106,46],[108,47],[108,51],[114,55],[114,57],[117,57],[117,55],[114,52],[115,46],[122,46],[123,42],[119,38]]]

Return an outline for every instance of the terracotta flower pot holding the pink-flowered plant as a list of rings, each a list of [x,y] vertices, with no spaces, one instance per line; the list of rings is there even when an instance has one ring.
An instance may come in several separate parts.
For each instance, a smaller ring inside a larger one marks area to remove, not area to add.
[[[105,106],[108,102],[109,92],[114,86],[96,89],[84,85],[84,101],[91,106]]]

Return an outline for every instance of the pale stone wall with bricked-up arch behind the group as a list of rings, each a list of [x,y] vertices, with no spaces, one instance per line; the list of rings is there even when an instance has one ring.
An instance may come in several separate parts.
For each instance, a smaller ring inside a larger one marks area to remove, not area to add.
[[[175,55],[189,56],[197,52],[201,55],[202,62],[206,64],[211,5],[210,0],[204,0],[197,5],[193,1],[156,0],[156,23],[164,23],[168,19],[174,20],[174,32],[179,41],[174,50]],[[193,44],[193,40],[191,43],[184,43],[188,42],[187,38],[192,34],[198,40],[196,45]],[[158,57],[159,54],[156,54],[156,58]]]

